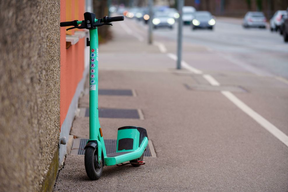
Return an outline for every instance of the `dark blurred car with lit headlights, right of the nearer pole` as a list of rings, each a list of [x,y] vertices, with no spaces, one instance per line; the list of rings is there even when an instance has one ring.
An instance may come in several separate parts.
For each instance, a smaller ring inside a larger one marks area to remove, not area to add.
[[[196,11],[192,20],[192,29],[207,28],[213,29],[216,21],[209,11]]]

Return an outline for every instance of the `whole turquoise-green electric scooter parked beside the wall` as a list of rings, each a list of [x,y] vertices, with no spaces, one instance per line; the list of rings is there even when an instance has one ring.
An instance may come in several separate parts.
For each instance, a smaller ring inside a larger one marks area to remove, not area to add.
[[[89,140],[85,146],[85,169],[88,177],[97,180],[101,177],[104,165],[144,165],[143,153],[148,145],[147,131],[141,127],[125,126],[118,128],[116,152],[106,154],[102,130],[98,116],[98,31],[97,27],[112,25],[110,22],[123,21],[124,17],[103,17],[96,19],[94,13],[84,13],[83,21],[61,22],[60,27],[89,29],[90,41],[90,91],[89,91]],[[129,163],[124,163],[129,161]]]

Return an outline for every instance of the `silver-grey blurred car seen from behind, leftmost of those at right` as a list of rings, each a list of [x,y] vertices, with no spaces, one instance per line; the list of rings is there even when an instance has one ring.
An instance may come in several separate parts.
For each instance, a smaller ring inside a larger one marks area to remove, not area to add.
[[[266,28],[266,17],[263,12],[252,12],[249,11],[246,13],[243,19],[243,27],[260,27]]]

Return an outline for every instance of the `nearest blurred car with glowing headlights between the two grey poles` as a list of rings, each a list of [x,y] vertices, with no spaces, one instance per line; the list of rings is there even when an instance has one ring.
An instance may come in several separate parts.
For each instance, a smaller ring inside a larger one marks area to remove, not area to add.
[[[156,12],[154,14],[154,18],[152,20],[154,29],[158,27],[169,27],[173,29],[173,25],[175,23],[175,19],[171,17],[169,12]]]

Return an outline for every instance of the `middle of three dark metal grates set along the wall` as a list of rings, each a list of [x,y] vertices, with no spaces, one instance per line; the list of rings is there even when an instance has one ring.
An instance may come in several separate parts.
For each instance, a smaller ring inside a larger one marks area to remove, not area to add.
[[[86,108],[85,117],[89,117],[89,108]],[[140,119],[137,109],[100,108],[99,117]]]

